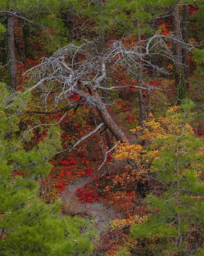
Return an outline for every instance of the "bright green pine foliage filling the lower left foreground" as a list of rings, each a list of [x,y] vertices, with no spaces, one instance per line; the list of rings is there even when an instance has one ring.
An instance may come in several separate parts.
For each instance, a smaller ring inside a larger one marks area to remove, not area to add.
[[[78,217],[60,217],[61,203],[47,205],[37,197],[49,160],[61,148],[58,128],[30,150],[29,131],[19,135],[18,111],[29,94],[9,95],[0,84],[0,255],[79,255],[92,252],[93,231]]]

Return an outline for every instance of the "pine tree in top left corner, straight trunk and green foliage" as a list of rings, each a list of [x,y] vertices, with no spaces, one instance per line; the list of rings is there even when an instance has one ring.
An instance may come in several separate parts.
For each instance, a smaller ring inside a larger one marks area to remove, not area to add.
[[[58,47],[66,45],[66,28],[60,15],[60,1],[16,1],[16,0],[0,0],[0,29],[7,28],[7,47],[9,74],[8,87],[16,89],[16,43],[15,26],[22,26],[24,37],[24,61],[27,58],[33,57],[31,46],[29,45],[29,36],[31,32],[40,38],[44,49],[48,52],[54,52]],[[4,25],[3,25],[4,24]],[[39,38],[38,38],[39,39]],[[18,49],[17,49],[18,50]],[[18,50],[19,53],[19,50]],[[6,64],[6,63],[4,63]]]

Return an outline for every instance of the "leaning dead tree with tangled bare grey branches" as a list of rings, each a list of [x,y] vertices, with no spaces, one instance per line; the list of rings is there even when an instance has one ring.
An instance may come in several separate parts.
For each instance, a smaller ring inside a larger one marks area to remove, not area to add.
[[[123,38],[106,45],[104,54],[98,51],[99,41],[84,41],[80,46],[69,44],[59,49],[50,58],[42,59],[40,65],[26,72],[30,75],[31,83],[35,83],[28,90],[35,90],[35,93],[39,95],[38,107],[44,107],[46,111],[47,99],[49,99],[49,108],[53,111],[61,104],[66,104],[69,108],[75,106],[76,102],[72,98],[78,95],[83,100],[83,104],[98,111],[102,122],[118,141],[127,141],[126,135],[109,114],[107,110],[109,104],[103,102],[100,91],[115,91],[127,87],[148,90],[149,93],[152,90],[164,91],[163,88],[151,87],[143,80],[137,85],[115,81],[111,78],[111,73],[113,74],[120,66],[133,79],[138,77],[140,68],[153,67],[158,72],[168,74],[167,68],[153,65],[149,59],[158,55],[177,63],[177,59],[174,58],[174,54],[166,44],[167,40],[177,40],[173,36],[173,34],[168,36],[156,34],[142,41],[141,44],[133,43],[130,47],[124,43]],[[76,53],[80,54],[82,59],[77,67],[73,61]],[[106,65],[111,67],[109,76],[107,76]],[[107,83],[103,81],[112,83],[107,86]],[[50,99],[52,99],[51,106]]]

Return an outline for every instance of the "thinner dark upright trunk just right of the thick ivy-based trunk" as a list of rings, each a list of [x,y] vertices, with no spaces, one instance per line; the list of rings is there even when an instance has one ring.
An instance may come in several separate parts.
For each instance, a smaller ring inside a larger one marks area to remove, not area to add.
[[[183,20],[182,20],[182,38],[183,42],[188,44],[188,4],[184,4],[183,9]],[[182,48],[182,55],[183,55],[183,63],[184,67],[184,74],[185,80],[188,80],[189,70],[188,70],[188,50],[186,47]],[[186,82],[186,88],[188,87],[188,83]]]

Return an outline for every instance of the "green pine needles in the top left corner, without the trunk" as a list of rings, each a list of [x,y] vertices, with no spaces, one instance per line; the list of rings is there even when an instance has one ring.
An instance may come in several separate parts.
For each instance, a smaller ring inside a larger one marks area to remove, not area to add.
[[[64,4],[69,1],[64,1]],[[67,43],[67,28],[65,22],[62,20],[61,1],[59,0],[0,0],[0,9],[3,11],[17,12],[22,18],[18,21],[27,26],[28,35],[32,37],[36,43],[36,36],[41,34],[41,37],[37,37],[37,41],[42,45],[44,50],[55,52],[58,48],[63,47]],[[62,10],[63,12],[64,10]],[[67,11],[67,10],[66,10]],[[7,13],[0,13],[0,21],[6,24]],[[27,20],[31,22],[28,22]],[[35,23],[35,24],[33,24]],[[0,23],[1,24],[1,23]],[[0,33],[5,31],[4,26],[0,26]],[[27,36],[28,36],[27,35]],[[24,35],[25,36],[25,35]]]

